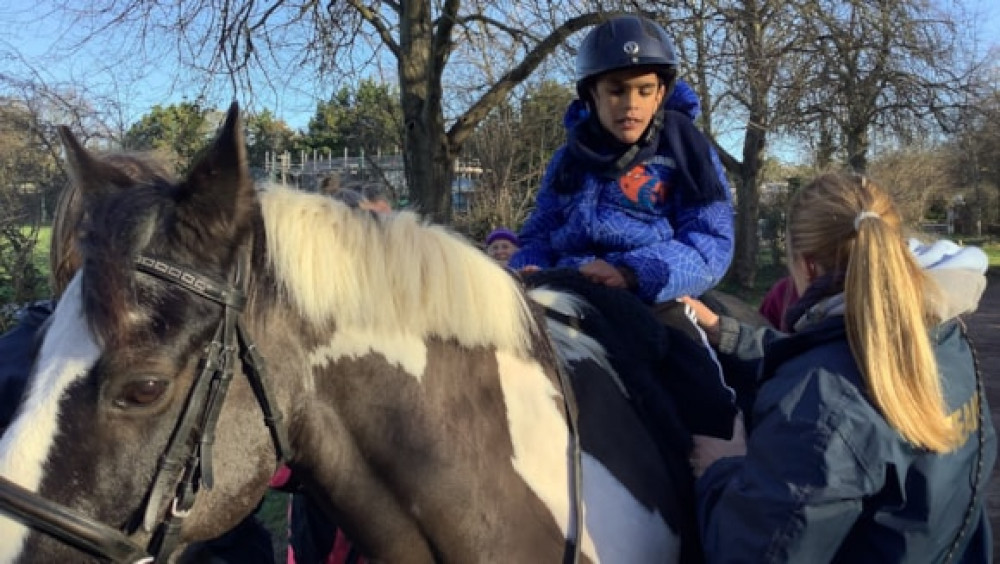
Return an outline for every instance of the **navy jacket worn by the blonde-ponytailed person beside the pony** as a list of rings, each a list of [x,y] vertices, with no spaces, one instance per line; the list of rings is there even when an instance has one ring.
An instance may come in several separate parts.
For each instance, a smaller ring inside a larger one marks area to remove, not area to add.
[[[868,400],[843,316],[775,335],[744,327],[729,343],[744,353],[763,345],[765,355],[747,455],[717,461],[697,482],[708,561],[940,562],[969,512],[953,562],[988,562],[996,435],[960,323],[932,332],[946,401],[966,432],[946,455],[907,444]]]

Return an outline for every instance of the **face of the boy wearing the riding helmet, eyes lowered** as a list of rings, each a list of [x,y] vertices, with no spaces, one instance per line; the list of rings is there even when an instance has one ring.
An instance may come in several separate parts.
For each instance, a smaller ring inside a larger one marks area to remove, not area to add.
[[[666,87],[659,75],[624,69],[597,79],[591,94],[597,118],[608,133],[631,145],[642,137],[663,102]]]

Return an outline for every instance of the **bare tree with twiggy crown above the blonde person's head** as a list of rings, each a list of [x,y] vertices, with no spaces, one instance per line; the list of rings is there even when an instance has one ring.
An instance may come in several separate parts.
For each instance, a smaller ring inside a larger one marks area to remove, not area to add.
[[[964,104],[976,65],[961,62],[954,14],[925,0],[810,0],[801,25],[814,74],[795,113],[835,124],[853,170],[868,168],[873,132],[925,137]]]

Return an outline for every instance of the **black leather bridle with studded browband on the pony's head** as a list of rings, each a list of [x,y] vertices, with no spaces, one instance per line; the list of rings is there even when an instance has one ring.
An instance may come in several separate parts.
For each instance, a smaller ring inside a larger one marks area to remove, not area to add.
[[[202,487],[212,488],[215,427],[233,378],[237,354],[263,412],[277,460],[289,458],[292,450],[281,413],[276,409],[264,358],[240,318],[246,304],[243,260],[237,261],[234,284],[220,284],[185,267],[146,255],[136,258],[135,268],[223,307],[222,319],[205,348],[201,372],[191,385],[170,441],[160,456],[146,499],[142,527],[153,533],[149,545],[141,547],[125,532],[46,500],[2,476],[0,511],[94,556],[111,562],[145,564],[166,561],[177,548],[181,526],[191,512],[196,494]],[[163,512],[164,500],[168,498],[170,507]],[[161,513],[165,514],[158,521]]]

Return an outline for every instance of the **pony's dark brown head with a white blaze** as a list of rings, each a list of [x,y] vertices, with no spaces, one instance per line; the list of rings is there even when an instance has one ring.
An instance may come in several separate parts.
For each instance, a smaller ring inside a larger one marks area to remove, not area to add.
[[[216,438],[215,451],[232,462],[214,469],[214,488],[205,487],[212,468],[191,460],[209,455],[205,443],[212,442],[202,433],[211,431],[211,403],[192,398],[219,387],[193,384],[236,354],[214,350],[232,343],[209,343],[242,305],[231,273],[251,254],[259,217],[237,109],[180,182],[97,157],[68,130],[60,133],[82,198],[82,267],[59,300],[24,402],[0,442],[0,475],[154,550],[166,542],[161,523],[184,517],[197,493],[201,503],[183,520],[181,537],[214,536],[252,510],[274,468],[260,412],[229,408],[254,402],[242,381],[218,416],[229,432]],[[167,456],[171,449],[179,454]],[[192,491],[179,492],[185,488]],[[212,500],[221,498],[227,509],[208,520]],[[20,520],[0,518],[0,538],[0,561],[82,559]]]

